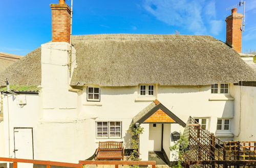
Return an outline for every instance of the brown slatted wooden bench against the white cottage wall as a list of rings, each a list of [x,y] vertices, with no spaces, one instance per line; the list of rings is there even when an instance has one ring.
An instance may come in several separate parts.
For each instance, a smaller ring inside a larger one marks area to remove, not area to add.
[[[96,150],[96,160],[98,159],[123,159],[123,142],[107,141],[99,142]]]

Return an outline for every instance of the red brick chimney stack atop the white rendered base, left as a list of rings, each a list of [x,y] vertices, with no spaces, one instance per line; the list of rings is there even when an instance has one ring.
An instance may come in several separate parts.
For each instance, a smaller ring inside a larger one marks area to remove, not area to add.
[[[52,9],[52,42],[70,43],[71,10],[65,0],[59,0],[59,4],[51,4]]]

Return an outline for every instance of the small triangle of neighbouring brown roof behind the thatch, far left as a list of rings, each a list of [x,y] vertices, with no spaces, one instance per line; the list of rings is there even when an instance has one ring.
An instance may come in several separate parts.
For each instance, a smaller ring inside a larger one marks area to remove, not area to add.
[[[16,61],[18,61],[20,58],[22,58],[21,55],[0,52],[0,73]]]

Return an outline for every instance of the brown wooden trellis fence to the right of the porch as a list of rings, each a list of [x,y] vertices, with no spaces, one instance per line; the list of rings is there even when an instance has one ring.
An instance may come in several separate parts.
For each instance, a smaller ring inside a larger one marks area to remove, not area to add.
[[[185,165],[188,167],[256,167],[256,142],[223,142],[201,128],[192,117],[187,121],[184,135],[188,139],[188,148],[184,152]]]

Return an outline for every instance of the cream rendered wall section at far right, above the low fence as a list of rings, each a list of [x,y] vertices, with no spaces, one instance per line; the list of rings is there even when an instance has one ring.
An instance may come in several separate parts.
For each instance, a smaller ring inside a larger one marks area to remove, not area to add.
[[[233,139],[235,141],[256,141],[256,87],[233,86],[232,96],[235,98]]]

